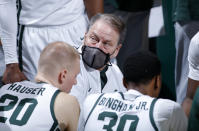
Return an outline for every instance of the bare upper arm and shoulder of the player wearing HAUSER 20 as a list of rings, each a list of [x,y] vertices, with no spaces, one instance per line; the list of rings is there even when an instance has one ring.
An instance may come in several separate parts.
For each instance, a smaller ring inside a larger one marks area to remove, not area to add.
[[[59,93],[55,99],[54,109],[61,130],[77,131],[80,108],[74,96]]]

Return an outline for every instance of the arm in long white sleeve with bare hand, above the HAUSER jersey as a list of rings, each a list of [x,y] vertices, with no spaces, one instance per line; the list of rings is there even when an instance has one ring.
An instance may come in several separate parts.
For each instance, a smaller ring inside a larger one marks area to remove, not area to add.
[[[3,74],[2,81],[5,84],[26,79],[18,66],[16,35],[16,1],[0,0],[0,38],[6,64],[6,70]]]

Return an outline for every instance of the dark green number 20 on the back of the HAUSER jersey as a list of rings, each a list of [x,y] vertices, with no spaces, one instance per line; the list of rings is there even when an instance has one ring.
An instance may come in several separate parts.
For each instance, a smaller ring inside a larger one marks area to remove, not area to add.
[[[15,107],[15,105],[17,104],[18,97],[10,95],[10,94],[5,94],[0,98],[0,103],[5,103],[6,100],[9,100],[9,104],[0,106],[0,112],[12,110]],[[29,120],[37,103],[38,103],[37,100],[33,99],[33,98],[25,98],[25,99],[20,100],[19,104],[16,106],[15,110],[13,111],[13,113],[9,119],[10,124],[18,125],[18,126],[25,125],[27,123],[27,121]],[[24,115],[20,119],[17,119],[17,117],[19,116],[20,112],[22,111],[22,109],[24,108],[24,106],[26,104],[28,104],[28,107],[24,111]],[[6,117],[0,116],[0,122],[2,122],[2,123],[5,123],[7,119],[8,118],[6,118]]]

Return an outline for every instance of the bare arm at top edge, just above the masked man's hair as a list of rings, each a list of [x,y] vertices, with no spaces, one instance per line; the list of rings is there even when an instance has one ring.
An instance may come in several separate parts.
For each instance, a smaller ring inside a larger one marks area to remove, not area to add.
[[[104,0],[84,0],[89,19],[97,13],[104,12]]]

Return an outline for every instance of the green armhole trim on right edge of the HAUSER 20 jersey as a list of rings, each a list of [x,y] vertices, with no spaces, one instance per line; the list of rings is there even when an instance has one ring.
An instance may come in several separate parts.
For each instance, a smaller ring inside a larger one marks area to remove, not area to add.
[[[58,121],[57,121],[57,119],[56,119],[56,117],[55,117],[54,104],[55,104],[55,98],[57,97],[57,95],[58,95],[59,93],[60,93],[60,90],[57,90],[57,91],[54,93],[54,95],[53,95],[53,97],[52,97],[52,99],[51,99],[51,102],[50,102],[50,112],[51,112],[52,118],[53,118],[53,120],[54,120],[54,123],[53,123],[53,125],[52,125],[50,131],[54,131],[54,130],[56,129],[56,127],[58,126]]]

